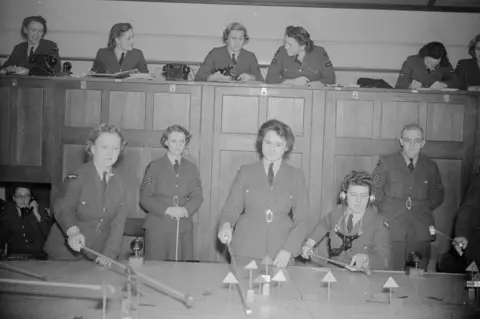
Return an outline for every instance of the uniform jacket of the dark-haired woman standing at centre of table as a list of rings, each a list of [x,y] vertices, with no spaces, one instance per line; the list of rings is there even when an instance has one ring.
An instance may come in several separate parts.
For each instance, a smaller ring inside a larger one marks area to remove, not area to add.
[[[271,222],[267,222],[268,210],[273,213]],[[296,256],[306,236],[308,216],[308,189],[302,170],[282,162],[270,187],[259,161],[240,168],[219,225],[229,222],[235,227],[232,249],[236,256],[275,258],[282,249]]]

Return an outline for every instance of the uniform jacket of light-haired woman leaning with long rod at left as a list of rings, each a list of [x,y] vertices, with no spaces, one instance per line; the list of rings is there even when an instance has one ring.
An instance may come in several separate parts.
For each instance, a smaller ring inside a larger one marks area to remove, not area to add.
[[[84,258],[85,255],[70,249],[65,240],[67,230],[77,226],[85,236],[87,247],[116,258],[120,253],[127,217],[125,198],[118,172],[112,170],[104,189],[93,161],[80,166],[67,176],[54,199],[53,211],[57,223],[45,243],[45,252],[56,260]]]

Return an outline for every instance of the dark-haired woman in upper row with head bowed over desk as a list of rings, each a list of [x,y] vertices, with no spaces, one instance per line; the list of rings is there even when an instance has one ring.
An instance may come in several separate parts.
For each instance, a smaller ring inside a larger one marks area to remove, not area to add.
[[[440,42],[430,42],[403,62],[395,88],[442,90],[459,86],[447,50]]]

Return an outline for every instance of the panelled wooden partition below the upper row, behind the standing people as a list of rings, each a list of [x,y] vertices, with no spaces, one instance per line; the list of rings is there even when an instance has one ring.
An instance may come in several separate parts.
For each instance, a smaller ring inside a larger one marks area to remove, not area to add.
[[[145,167],[165,154],[163,130],[184,125],[193,134],[186,153],[200,169],[204,195],[194,220],[195,258],[218,261],[218,216],[240,166],[258,159],[255,138],[263,122],[277,118],[295,133],[289,162],[305,173],[312,221],[332,208],[345,174],[372,171],[380,155],[399,150],[401,128],[419,123],[424,151],[438,163],[446,189],[437,227],[449,233],[474,162],[480,163],[477,111],[477,96],[459,92],[0,77],[0,181],[58,187],[83,163],[91,128],[112,123],[128,141],[118,167],[129,216],[143,217]],[[437,256],[449,243],[438,238],[433,247]]]

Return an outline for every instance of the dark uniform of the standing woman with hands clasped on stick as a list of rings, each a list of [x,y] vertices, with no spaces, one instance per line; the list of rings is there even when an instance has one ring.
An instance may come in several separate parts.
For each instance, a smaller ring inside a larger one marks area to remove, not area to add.
[[[145,171],[140,205],[146,210],[145,258],[148,260],[175,260],[177,220],[165,215],[168,207],[187,209],[188,217],[180,219],[179,260],[193,259],[192,217],[203,202],[200,173],[195,164],[182,157],[178,172],[167,155],[153,161]]]

